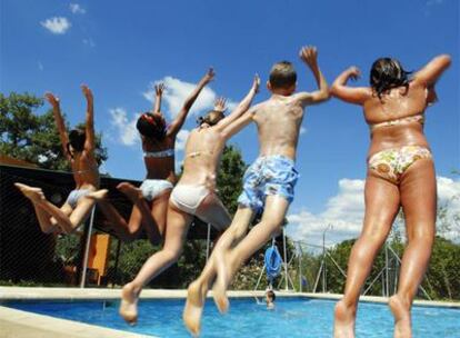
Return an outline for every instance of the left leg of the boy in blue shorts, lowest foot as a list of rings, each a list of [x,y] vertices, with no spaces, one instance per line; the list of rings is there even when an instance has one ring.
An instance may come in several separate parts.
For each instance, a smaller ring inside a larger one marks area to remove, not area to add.
[[[227,210],[224,211],[227,212]],[[239,208],[237,210],[231,226],[219,238],[200,277],[190,284],[182,318],[192,335],[198,335],[200,331],[200,321],[206,295],[216,277],[216,252],[219,250],[227,251],[238,243],[248,231],[252,218],[253,211],[251,209]]]

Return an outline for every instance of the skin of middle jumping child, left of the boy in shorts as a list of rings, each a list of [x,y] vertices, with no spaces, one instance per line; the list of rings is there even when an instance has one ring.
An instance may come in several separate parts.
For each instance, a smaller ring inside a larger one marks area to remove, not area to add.
[[[230,216],[214,191],[217,170],[227,140],[248,125],[250,118],[247,110],[258,88],[259,78],[256,76],[249,93],[234,111],[223,117],[224,100],[219,99],[214,111],[210,115],[213,123],[202,123],[191,131],[184,149],[186,160],[178,186],[204,185],[210,193],[200,203],[194,215],[179,210],[172,202],[169,203],[163,248],[146,261],[134,280],[123,287],[120,315],[128,322],[136,324],[137,321],[137,302],[142,287],[180,257],[193,216],[211,223],[218,230],[223,230],[230,225]],[[197,299],[197,301],[201,300]]]

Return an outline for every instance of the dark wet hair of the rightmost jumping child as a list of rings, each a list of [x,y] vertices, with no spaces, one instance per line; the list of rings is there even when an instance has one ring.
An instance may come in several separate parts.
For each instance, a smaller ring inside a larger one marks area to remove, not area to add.
[[[370,86],[381,99],[382,95],[392,88],[401,86],[409,88],[410,73],[411,71],[406,71],[398,60],[380,58],[372,63]]]

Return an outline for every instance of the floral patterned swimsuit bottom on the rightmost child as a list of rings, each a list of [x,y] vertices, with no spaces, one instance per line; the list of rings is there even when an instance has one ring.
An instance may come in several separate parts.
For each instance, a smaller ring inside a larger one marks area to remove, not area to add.
[[[431,158],[431,151],[426,147],[404,146],[376,152],[370,157],[368,166],[380,177],[398,185],[402,173],[411,165],[417,160]]]

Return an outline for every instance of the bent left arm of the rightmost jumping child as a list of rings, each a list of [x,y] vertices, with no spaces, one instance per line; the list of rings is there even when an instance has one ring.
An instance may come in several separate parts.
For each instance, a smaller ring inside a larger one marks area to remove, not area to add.
[[[361,71],[357,67],[350,67],[343,71],[333,81],[331,95],[346,102],[354,105],[363,105],[367,99],[372,96],[372,91],[368,87],[348,87],[349,79],[357,80],[361,76]]]

